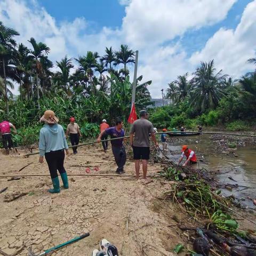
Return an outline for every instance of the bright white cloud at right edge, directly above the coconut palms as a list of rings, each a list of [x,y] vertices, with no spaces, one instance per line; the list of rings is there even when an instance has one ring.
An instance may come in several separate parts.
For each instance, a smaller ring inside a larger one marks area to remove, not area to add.
[[[247,59],[255,54],[256,1],[249,3],[236,29],[219,29],[206,43],[204,49],[194,53],[190,62],[197,65],[200,61],[214,59],[215,65],[223,73],[239,77],[253,65]]]

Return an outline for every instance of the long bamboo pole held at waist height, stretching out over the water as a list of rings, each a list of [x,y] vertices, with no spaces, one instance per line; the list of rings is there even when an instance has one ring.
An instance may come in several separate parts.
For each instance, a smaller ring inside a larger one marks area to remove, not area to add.
[[[182,136],[182,134],[195,134],[198,133],[199,134],[220,134],[220,135],[234,135],[234,136],[241,136],[241,137],[256,137],[256,135],[251,135],[251,134],[241,134],[241,133],[225,133],[225,132],[156,132],[156,134],[163,134],[163,133],[167,133],[167,134],[180,134]],[[107,140],[101,140],[101,141],[111,141],[111,140],[119,140],[119,139],[126,139],[129,138],[130,136],[124,136],[124,137],[119,137],[119,138],[113,138],[113,139],[107,139]],[[69,148],[73,148],[73,147],[82,147],[82,146],[86,146],[86,145],[93,145],[96,144],[97,141],[92,141],[92,142],[87,142],[87,143],[82,143],[79,145],[75,145],[75,146],[69,146]],[[26,154],[24,156],[31,156],[31,155],[37,155],[39,154],[39,152],[35,152],[35,153],[30,153],[30,154]]]

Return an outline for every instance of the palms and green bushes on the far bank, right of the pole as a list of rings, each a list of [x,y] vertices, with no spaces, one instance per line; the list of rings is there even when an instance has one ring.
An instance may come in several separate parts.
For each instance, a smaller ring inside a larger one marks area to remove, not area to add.
[[[249,60],[252,63],[254,59]],[[188,79],[188,73],[169,83],[166,98],[170,106],[151,111],[157,127],[197,125],[222,126],[229,131],[247,130],[256,119],[256,73],[247,73],[239,81],[214,68],[214,62],[202,62]]]

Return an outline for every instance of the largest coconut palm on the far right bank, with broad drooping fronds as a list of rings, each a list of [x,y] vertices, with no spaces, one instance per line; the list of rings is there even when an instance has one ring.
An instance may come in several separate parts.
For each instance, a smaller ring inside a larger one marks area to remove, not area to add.
[[[196,107],[200,113],[206,109],[215,108],[220,99],[225,96],[223,83],[227,76],[221,75],[221,71],[216,71],[213,60],[208,63],[201,62],[201,67],[196,69],[192,81],[194,90],[190,105]]]

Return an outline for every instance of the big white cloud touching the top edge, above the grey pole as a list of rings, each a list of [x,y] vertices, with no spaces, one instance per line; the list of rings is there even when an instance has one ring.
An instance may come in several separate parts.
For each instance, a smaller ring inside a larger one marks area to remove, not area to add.
[[[132,0],[126,7],[126,41],[143,47],[223,20],[237,0]]]

